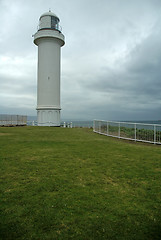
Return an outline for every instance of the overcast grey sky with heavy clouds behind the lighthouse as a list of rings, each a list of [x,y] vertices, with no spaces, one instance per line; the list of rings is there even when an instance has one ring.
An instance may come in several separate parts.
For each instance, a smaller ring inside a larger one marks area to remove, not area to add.
[[[161,119],[161,0],[0,0],[0,113],[36,115],[37,46],[51,9],[62,119]]]

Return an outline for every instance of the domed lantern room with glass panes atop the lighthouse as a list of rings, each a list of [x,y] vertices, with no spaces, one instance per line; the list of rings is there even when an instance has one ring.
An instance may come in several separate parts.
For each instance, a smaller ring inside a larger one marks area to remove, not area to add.
[[[59,26],[59,18],[57,15],[51,11],[46,12],[40,16],[39,19],[39,30],[51,29],[61,32],[61,27]]]

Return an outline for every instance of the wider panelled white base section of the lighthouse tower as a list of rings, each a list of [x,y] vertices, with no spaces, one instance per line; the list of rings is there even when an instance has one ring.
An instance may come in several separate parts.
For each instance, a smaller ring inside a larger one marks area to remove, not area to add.
[[[37,111],[38,126],[60,127],[60,110],[38,110]]]

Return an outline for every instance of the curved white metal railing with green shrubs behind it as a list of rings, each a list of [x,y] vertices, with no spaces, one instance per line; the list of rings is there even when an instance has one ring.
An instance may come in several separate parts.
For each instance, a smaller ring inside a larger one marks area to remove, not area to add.
[[[161,125],[159,124],[94,120],[93,131],[116,138],[161,144]]]

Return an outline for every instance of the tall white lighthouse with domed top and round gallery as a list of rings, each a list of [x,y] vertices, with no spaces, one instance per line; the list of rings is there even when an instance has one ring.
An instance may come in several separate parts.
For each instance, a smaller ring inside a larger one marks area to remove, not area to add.
[[[65,42],[59,21],[51,11],[42,14],[34,35],[38,46],[38,126],[60,126],[60,48]]]

